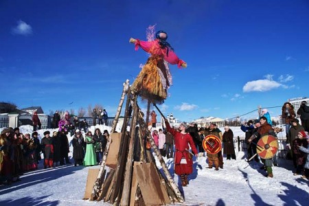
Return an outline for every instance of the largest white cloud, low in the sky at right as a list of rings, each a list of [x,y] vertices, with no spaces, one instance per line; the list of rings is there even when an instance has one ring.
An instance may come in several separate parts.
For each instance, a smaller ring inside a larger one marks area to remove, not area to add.
[[[271,89],[276,89],[278,87],[282,87],[283,85],[275,82],[273,80],[255,80],[251,82],[247,82],[244,84],[244,87],[242,87],[243,92],[251,92],[251,91],[269,91]]]

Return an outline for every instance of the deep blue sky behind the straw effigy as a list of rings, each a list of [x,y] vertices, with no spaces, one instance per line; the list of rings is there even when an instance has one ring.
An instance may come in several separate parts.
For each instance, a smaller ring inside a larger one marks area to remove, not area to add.
[[[0,100],[115,115],[122,83],[148,58],[128,40],[146,40],[149,25],[187,62],[170,65],[165,115],[226,119],[308,96],[308,1],[1,0]]]

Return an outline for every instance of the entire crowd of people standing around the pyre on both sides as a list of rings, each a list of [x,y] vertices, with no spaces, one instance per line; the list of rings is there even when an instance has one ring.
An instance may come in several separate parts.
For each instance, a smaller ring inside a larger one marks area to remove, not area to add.
[[[297,113],[295,113],[293,105],[289,102],[285,102],[282,106],[282,117],[286,124],[286,146],[288,148],[286,158],[293,160],[295,166],[294,175],[300,175],[303,179],[309,179],[309,106],[306,104],[307,102],[302,102]],[[104,113],[104,111],[102,112]],[[37,114],[34,114],[34,120],[36,119],[35,115]],[[150,116],[152,117],[150,127],[154,128],[152,138],[155,145],[159,148],[161,155],[168,159],[174,158],[175,173],[180,176],[183,186],[189,183],[188,175],[192,173],[192,155],[196,157],[206,156],[207,168],[214,168],[216,171],[219,168],[223,169],[223,156],[226,157],[227,161],[236,159],[233,131],[229,126],[225,126],[222,132],[216,124],[201,127],[201,125],[192,123],[187,128],[185,124],[181,124],[179,129],[175,130],[165,119],[166,128],[157,130],[155,111],[152,111]],[[93,117],[97,116],[93,115]],[[301,124],[299,124],[297,117],[300,117]],[[49,130],[46,130],[41,141],[38,139],[38,133],[36,132],[40,125],[38,121],[36,121],[37,124],[31,135],[20,133],[19,128],[5,128],[2,130],[0,136],[0,183],[10,184],[13,181],[19,181],[19,176],[24,172],[36,170],[38,163],[41,161],[41,152],[43,153],[44,168],[71,164],[68,157],[68,133],[71,133],[71,137],[73,137],[71,144],[73,146],[75,166],[100,164],[107,144],[108,130],[104,130],[102,133],[100,128],[96,128],[92,134],[88,130],[86,119],[82,121],[84,122],[82,124],[77,117],[74,118],[73,126],[71,126],[69,113],[65,113],[65,118],[59,119],[58,122],[57,118],[58,111],[54,115],[54,124],[58,125],[58,131],[54,131],[51,135]],[[104,119],[103,115],[102,119]],[[101,124],[102,121],[99,117]],[[84,135],[82,130],[84,130]],[[260,169],[266,171],[265,176],[272,178],[273,165],[279,166],[277,155],[265,159],[256,155],[259,139],[265,135],[277,137],[276,135],[279,132],[272,126],[267,109],[262,110],[258,119],[249,120],[242,124],[241,130],[245,133],[244,141],[247,143],[247,160],[262,163]],[[214,135],[220,139],[222,150],[215,154],[210,154],[204,150],[203,139],[208,135]]]

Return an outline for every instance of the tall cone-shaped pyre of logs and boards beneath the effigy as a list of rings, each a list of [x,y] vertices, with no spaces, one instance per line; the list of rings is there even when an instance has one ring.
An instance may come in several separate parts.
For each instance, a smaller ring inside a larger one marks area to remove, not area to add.
[[[122,131],[115,133],[125,97]],[[148,110],[149,105],[150,102]],[[130,131],[127,130],[128,123]],[[151,148],[146,148],[146,141],[150,142],[157,155],[164,175],[157,168]],[[108,168],[105,168],[105,165]],[[137,95],[131,93],[128,80],[124,83],[100,170],[89,170],[84,199],[88,198],[91,201],[104,201],[114,205],[165,205],[184,201],[150,135],[144,114],[137,104]]]

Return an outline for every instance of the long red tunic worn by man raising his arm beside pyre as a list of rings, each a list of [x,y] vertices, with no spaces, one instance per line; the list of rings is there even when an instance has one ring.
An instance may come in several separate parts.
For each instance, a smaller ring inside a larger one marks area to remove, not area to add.
[[[194,144],[194,141],[191,137],[191,135],[189,133],[180,133],[177,130],[174,130],[173,128],[170,127],[170,124],[168,122],[165,122],[166,124],[166,129],[168,130],[168,132],[170,132],[173,136],[174,136],[174,141],[175,141],[175,159],[174,159],[174,163],[175,163],[175,173],[176,174],[191,174],[193,169],[192,169],[192,165],[193,165],[193,161],[192,159],[189,158],[189,152],[188,150],[189,145],[192,149],[192,152],[194,154],[197,154],[197,150]],[[176,168],[179,167],[181,165],[181,159],[185,158],[185,161],[187,161],[186,165],[187,165],[187,170],[184,171],[183,167],[180,168]]]

